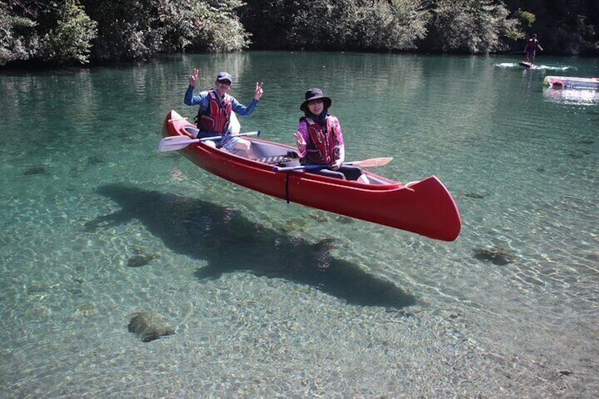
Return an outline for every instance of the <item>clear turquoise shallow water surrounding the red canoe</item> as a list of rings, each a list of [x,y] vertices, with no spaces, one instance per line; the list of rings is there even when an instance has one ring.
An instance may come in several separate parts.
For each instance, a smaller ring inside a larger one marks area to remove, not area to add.
[[[0,82],[0,392],[11,397],[590,397],[599,102],[546,74],[596,59],[252,52]],[[245,131],[292,143],[333,98],[348,159],[436,174],[456,242],[263,196],[158,153],[186,78],[231,71]],[[500,247],[497,265],[475,257]],[[129,267],[134,256],[151,260]],[[236,271],[241,270],[241,271]],[[142,343],[134,311],[175,335]]]

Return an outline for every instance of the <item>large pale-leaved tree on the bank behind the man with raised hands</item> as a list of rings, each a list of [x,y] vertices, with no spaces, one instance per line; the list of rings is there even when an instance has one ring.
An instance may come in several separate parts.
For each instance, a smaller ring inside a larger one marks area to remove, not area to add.
[[[239,0],[83,0],[97,20],[94,56],[148,59],[160,52],[230,52],[249,44]]]

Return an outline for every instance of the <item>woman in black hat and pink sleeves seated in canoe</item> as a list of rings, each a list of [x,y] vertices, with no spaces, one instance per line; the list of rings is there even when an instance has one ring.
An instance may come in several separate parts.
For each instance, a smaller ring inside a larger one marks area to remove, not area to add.
[[[304,117],[297,126],[297,152],[304,165],[328,165],[314,173],[338,179],[357,180],[368,184],[368,177],[357,166],[343,165],[345,145],[339,120],[328,113],[331,98],[321,89],[312,88],[306,92],[305,100],[299,106]]]

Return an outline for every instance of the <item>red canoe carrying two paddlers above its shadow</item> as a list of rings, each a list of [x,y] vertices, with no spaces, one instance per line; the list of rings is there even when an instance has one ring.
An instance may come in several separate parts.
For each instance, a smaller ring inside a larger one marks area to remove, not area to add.
[[[249,159],[213,148],[197,139],[192,141],[194,133],[197,133],[196,126],[171,111],[162,126],[162,136],[165,137],[162,141],[170,141],[164,144],[177,141],[179,145],[172,145],[171,149],[181,149],[182,155],[198,167],[235,184],[290,202],[396,227],[432,239],[453,241],[460,233],[461,218],[456,203],[435,176],[405,186],[400,181],[371,172],[365,172],[371,183],[363,184],[302,169],[275,171],[273,165],[299,166],[299,160],[292,157],[295,148],[247,136],[251,141],[252,159]]]

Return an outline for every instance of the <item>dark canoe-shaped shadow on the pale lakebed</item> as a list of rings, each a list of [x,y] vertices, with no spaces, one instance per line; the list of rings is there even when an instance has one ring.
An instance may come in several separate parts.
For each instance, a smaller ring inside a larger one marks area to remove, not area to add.
[[[91,220],[85,224],[86,230],[140,220],[172,251],[208,261],[208,266],[195,273],[199,280],[246,271],[311,285],[360,306],[415,304],[415,298],[393,282],[333,257],[333,240],[312,244],[251,222],[235,208],[173,193],[125,184],[101,186],[97,192],[117,202],[121,210]]]

